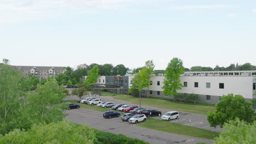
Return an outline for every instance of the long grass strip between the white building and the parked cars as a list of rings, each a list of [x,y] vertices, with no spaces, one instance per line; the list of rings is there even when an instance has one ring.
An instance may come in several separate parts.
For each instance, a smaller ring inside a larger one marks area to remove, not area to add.
[[[108,95],[109,96],[109,95]],[[132,97],[131,95],[115,95],[109,96],[114,99],[130,101],[133,104],[139,104],[139,98]],[[160,107],[164,109],[172,109],[177,111],[191,112],[191,113],[199,113],[203,115],[207,115],[208,111],[214,111],[215,107],[212,105],[200,105],[200,104],[183,104],[183,103],[173,103],[168,100],[162,99],[153,99],[153,98],[142,98],[142,105],[150,105],[154,107]]]

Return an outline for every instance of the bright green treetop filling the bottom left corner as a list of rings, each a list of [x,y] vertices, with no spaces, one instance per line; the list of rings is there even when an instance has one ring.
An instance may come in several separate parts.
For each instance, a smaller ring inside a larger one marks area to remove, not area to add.
[[[16,129],[5,136],[0,135],[0,143],[86,143],[96,142],[94,130],[75,123],[61,121],[50,124],[34,124],[30,130]]]

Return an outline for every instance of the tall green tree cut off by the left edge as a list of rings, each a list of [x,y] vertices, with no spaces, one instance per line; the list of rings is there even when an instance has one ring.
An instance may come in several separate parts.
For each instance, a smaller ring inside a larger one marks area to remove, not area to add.
[[[0,63],[0,134],[16,127],[15,119],[22,103],[21,74],[9,65],[8,59]],[[1,142],[0,142],[1,143]]]

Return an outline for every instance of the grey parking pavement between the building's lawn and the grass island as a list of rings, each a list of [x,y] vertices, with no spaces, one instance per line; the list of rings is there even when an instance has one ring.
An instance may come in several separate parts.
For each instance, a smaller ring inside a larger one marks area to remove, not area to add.
[[[114,102],[114,104],[138,105],[138,104],[132,104],[129,101],[113,99],[112,97],[106,97],[106,96],[100,96],[99,97],[97,95],[96,98],[100,98],[100,99],[102,99],[102,101],[112,101],[112,102]],[[76,99],[77,100],[78,97],[70,96],[67,99]],[[159,111],[162,112],[162,115],[167,111],[176,111],[176,110],[172,110],[172,109],[162,109],[162,108],[159,108],[159,107],[152,107],[152,106],[143,105],[143,101],[142,101],[141,107],[143,107],[145,109],[159,110]],[[200,114],[197,114],[197,113],[189,113],[189,112],[181,112],[181,111],[179,111],[179,115],[180,115],[179,119],[172,119],[170,122],[184,124],[184,125],[190,125],[191,127],[197,127],[197,128],[212,130],[212,131],[216,131],[216,132],[222,132],[222,129],[220,127],[216,127],[216,128],[210,127],[210,124],[207,121],[207,116],[206,115],[200,115]],[[153,117],[153,118],[161,119],[161,117]]]

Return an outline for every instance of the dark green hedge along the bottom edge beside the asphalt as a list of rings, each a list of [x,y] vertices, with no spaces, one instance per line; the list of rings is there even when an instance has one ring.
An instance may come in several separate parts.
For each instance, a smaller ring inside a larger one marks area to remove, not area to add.
[[[104,131],[96,131],[96,139],[95,144],[146,144],[142,140],[132,139],[130,137],[126,137],[124,135],[112,134]]]

